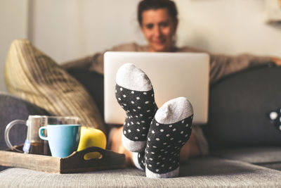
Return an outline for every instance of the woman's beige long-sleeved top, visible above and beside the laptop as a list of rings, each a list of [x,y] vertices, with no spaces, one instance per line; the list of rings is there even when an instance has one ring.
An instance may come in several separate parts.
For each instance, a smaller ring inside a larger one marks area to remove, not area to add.
[[[149,51],[148,46],[141,46],[136,43],[123,44],[115,46],[107,51]],[[200,49],[190,48],[184,46],[181,48],[174,48],[173,52],[206,52]],[[86,58],[81,58],[75,61],[67,62],[62,65],[65,69],[80,68],[89,71],[103,74],[103,55],[102,53],[93,54]],[[214,84],[226,75],[236,73],[240,70],[251,68],[258,65],[265,65],[272,63],[270,57],[254,56],[251,54],[241,54],[238,56],[227,56],[223,54],[211,54],[210,56],[210,84]]]

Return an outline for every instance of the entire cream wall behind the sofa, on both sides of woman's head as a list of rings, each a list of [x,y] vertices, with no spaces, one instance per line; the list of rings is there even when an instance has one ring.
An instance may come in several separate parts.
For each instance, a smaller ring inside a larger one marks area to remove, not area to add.
[[[25,37],[27,1],[0,0],[0,15],[15,19],[1,30],[1,53],[3,49],[6,53],[11,39]],[[178,46],[224,54],[281,56],[281,25],[263,22],[264,0],[175,1],[180,13]],[[27,36],[58,63],[117,44],[145,44],[136,21],[137,4],[138,0],[30,0]],[[2,27],[6,18],[0,20]],[[22,35],[12,35],[15,31]],[[1,54],[2,67],[3,59]]]

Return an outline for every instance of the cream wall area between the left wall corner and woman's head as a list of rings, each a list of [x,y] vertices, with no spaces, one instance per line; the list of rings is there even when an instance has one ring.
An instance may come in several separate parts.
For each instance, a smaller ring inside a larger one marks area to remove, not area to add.
[[[143,36],[138,0],[32,0],[32,42],[55,61],[73,60]]]

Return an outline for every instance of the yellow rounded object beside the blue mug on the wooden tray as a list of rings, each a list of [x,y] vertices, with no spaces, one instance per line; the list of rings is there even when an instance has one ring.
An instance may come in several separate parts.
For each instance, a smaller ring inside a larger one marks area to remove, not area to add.
[[[77,151],[81,151],[91,146],[96,146],[105,149],[105,134],[101,130],[92,127],[81,127],[81,135]],[[84,156],[85,160],[89,160],[91,158],[100,158],[100,153],[91,152],[86,153],[86,155]]]

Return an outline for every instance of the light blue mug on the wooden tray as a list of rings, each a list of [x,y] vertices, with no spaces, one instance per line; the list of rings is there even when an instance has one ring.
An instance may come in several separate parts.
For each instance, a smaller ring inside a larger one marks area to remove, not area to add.
[[[39,137],[48,140],[52,156],[65,158],[77,151],[80,130],[81,125],[47,125],[39,128]]]

